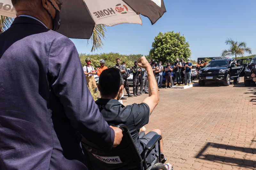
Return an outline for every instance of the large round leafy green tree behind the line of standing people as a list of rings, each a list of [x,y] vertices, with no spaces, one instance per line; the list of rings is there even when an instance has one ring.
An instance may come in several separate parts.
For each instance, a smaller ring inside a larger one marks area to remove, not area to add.
[[[186,38],[179,33],[167,32],[159,33],[152,43],[152,48],[149,51],[149,57],[155,61],[162,61],[163,64],[167,62],[173,63],[176,58],[183,58],[184,61],[191,56],[189,43]]]

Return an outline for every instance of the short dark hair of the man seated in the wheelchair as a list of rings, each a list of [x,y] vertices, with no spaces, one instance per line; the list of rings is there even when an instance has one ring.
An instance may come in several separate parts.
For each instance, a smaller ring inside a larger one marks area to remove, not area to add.
[[[115,98],[124,79],[119,69],[109,68],[103,70],[99,77],[100,95]]]

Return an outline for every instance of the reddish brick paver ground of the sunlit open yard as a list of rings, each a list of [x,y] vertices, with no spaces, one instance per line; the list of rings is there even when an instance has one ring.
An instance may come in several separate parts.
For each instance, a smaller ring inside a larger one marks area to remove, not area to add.
[[[145,127],[146,132],[162,130],[164,155],[174,170],[256,169],[256,85],[245,87],[243,78],[231,83],[160,89],[160,102]]]

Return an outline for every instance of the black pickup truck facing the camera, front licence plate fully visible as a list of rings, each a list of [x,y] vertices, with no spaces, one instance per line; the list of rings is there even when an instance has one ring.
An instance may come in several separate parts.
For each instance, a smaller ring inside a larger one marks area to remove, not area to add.
[[[199,70],[199,85],[205,85],[205,82],[223,82],[225,86],[228,86],[230,85],[230,80],[238,83],[239,77],[244,76],[244,60],[247,61],[249,59],[213,58],[204,68]]]

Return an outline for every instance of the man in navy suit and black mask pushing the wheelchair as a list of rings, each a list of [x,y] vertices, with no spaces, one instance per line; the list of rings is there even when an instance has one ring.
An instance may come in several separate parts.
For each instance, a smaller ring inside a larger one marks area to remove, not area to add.
[[[87,169],[81,134],[108,152],[122,130],[99,112],[75,45],[52,31],[60,2],[12,4],[17,18],[0,34],[0,169]]]

